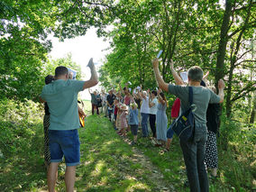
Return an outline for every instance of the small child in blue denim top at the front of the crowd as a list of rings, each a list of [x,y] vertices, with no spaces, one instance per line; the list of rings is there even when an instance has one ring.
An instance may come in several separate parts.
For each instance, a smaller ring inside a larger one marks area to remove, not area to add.
[[[138,133],[138,124],[139,124],[139,118],[138,118],[139,111],[137,109],[136,103],[132,103],[131,108],[129,109],[129,119],[128,124],[131,127],[131,131],[133,133],[133,142],[132,145],[137,143],[137,133]]]

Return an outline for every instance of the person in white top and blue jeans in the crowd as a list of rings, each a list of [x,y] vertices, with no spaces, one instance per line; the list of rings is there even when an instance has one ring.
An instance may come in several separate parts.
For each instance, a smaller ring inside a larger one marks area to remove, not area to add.
[[[141,106],[141,114],[142,114],[142,137],[148,137],[148,119],[150,114],[150,106],[149,106],[149,96],[147,96],[146,91],[142,91],[139,93],[139,96],[142,99]]]

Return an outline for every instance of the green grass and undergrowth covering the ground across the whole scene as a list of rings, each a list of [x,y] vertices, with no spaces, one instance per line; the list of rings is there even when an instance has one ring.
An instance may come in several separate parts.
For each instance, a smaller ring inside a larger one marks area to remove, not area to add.
[[[85,101],[90,114],[90,102]],[[30,102],[0,102],[0,188],[1,191],[45,191],[42,114],[40,105]],[[219,178],[210,179],[210,191],[253,191],[255,187],[255,142],[251,134],[232,133],[234,124],[224,122],[223,135],[218,138]],[[241,131],[244,132],[244,131]],[[232,134],[231,134],[232,133]],[[244,137],[245,137],[244,136]],[[157,169],[164,183],[175,191],[189,191],[183,187],[187,179],[182,152],[175,137],[171,150],[161,154],[149,139],[139,137],[132,147],[114,132],[113,124],[105,117],[87,116],[86,127],[79,129],[81,165],[77,169],[77,191],[160,191],[158,180],[152,178]],[[128,138],[132,139],[131,133]],[[226,140],[225,140],[226,139]],[[135,151],[133,150],[135,149]],[[148,161],[134,160],[139,151]],[[141,152],[140,152],[141,151]],[[65,191],[65,164],[59,166],[58,191]]]

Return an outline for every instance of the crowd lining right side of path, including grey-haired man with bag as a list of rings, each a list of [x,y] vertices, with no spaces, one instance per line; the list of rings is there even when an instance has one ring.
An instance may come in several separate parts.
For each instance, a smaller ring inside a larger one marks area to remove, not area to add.
[[[157,60],[154,61],[154,63],[156,62]],[[156,90],[143,90],[142,85],[132,89],[129,82],[125,84],[125,87],[119,86],[119,90],[111,89],[108,94],[102,91],[97,96],[102,101],[102,112],[114,123],[116,133],[125,137],[126,133],[131,131],[133,134],[131,144],[136,145],[138,138],[140,138],[140,136],[138,137],[139,130],[141,137],[148,137],[155,146],[163,147],[162,152],[168,152],[174,135],[171,129],[172,123],[188,107],[187,86],[194,87],[194,99],[198,107],[195,112],[196,139],[194,143],[180,141],[180,146],[187,166],[187,178],[191,191],[200,191],[200,189],[207,191],[208,181],[205,170],[212,169],[212,176],[216,177],[217,175],[216,134],[220,126],[221,109],[219,103],[223,102],[224,99],[224,81],[219,82],[220,94],[217,96],[215,95],[215,87],[208,85],[208,72],[203,77],[203,70],[199,67],[189,69],[187,85],[173,68],[173,62],[171,62],[170,69],[176,87],[169,86],[161,78],[157,78],[160,87]],[[177,96],[171,106],[169,123],[166,114],[169,104],[161,88]],[[170,124],[169,128],[168,124]],[[191,161],[191,158],[194,158],[194,161]]]

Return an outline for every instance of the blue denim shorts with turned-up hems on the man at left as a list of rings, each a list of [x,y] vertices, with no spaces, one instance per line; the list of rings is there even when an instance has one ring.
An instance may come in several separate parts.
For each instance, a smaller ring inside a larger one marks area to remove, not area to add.
[[[61,162],[63,155],[67,166],[80,164],[78,130],[49,130],[50,162]]]

